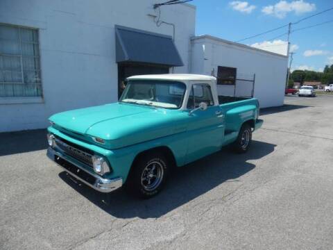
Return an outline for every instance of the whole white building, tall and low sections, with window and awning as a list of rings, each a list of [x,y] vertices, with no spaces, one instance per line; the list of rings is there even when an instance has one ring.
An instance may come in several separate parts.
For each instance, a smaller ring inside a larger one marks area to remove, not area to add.
[[[53,113],[117,101],[133,74],[217,76],[218,66],[235,67],[255,74],[262,106],[282,105],[287,57],[195,38],[194,6],[159,12],[157,2],[1,0],[0,132],[45,128]]]

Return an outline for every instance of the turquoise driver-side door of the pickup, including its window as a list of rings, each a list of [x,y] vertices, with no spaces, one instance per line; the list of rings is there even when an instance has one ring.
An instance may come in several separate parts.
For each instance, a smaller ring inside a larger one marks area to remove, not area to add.
[[[209,84],[192,85],[187,102],[188,110],[197,108],[201,102],[207,103],[207,110],[196,110],[189,115],[188,119],[187,163],[221,149],[224,134],[224,115],[220,106],[214,105]]]

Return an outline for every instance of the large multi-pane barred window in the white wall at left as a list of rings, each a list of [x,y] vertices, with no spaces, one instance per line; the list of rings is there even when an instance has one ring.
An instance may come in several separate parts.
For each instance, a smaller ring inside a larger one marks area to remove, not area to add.
[[[40,97],[38,31],[0,24],[0,97]]]

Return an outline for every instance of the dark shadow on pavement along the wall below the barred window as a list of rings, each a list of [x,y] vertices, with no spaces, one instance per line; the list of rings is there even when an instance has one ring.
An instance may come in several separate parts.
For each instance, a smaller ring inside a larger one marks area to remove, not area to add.
[[[46,129],[0,133],[0,156],[47,148]]]

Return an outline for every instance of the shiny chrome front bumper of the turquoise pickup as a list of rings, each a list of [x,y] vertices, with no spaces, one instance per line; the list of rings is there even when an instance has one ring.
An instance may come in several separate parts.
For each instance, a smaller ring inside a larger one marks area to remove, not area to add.
[[[46,155],[68,174],[99,192],[112,192],[123,185],[123,178],[103,178],[97,174],[92,174],[51,147],[47,149]]]

